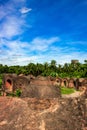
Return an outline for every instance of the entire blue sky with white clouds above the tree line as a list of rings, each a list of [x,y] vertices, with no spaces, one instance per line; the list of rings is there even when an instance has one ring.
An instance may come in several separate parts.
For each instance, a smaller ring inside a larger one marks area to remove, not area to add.
[[[87,0],[0,0],[0,64],[87,59]]]

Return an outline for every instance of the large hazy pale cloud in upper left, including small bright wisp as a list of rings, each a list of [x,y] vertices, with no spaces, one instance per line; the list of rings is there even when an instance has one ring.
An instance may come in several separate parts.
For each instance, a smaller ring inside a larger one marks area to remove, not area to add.
[[[12,0],[0,6],[0,38],[10,39],[19,36],[25,31],[26,27],[29,28],[29,23],[28,25],[26,23],[26,16],[22,17],[19,13],[19,8],[21,8],[21,13],[31,11],[24,5],[24,0],[19,0],[19,4],[17,0]]]

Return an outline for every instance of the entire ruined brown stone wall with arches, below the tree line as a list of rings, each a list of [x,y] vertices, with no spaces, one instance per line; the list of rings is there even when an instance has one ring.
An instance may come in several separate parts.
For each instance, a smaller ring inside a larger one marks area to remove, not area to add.
[[[21,89],[23,97],[54,98],[61,96],[61,86],[83,90],[87,88],[87,78],[52,78],[5,74],[3,76],[2,90],[9,93]]]

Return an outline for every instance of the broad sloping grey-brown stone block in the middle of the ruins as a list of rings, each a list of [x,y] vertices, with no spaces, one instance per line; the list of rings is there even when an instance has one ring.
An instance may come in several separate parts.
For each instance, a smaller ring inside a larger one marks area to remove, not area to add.
[[[60,87],[45,77],[35,78],[22,92],[21,97],[58,98],[61,97]]]

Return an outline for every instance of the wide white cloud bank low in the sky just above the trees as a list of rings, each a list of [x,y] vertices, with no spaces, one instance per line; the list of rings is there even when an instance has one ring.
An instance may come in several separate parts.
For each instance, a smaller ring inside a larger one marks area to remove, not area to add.
[[[58,64],[69,63],[72,59],[83,62],[87,53],[69,47],[56,47],[58,37],[34,38],[30,43],[20,40],[0,40],[0,63],[7,65],[27,65],[30,62],[44,63],[56,60]],[[35,53],[36,52],[36,53]]]

